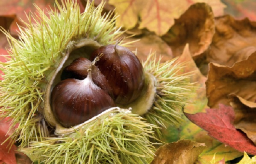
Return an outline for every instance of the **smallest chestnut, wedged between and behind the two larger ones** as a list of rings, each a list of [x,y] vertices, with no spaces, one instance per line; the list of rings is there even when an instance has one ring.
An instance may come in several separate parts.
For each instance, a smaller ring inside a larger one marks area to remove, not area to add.
[[[100,72],[100,69],[92,64],[92,62],[87,58],[77,58],[70,65],[66,66],[62,71],[61,80],[68,78],[83,80],[87,77],[87,69],[89,68],[91,68],[92,81],[111,97],[113,97],[112,89],[110,88],[105,76]]]

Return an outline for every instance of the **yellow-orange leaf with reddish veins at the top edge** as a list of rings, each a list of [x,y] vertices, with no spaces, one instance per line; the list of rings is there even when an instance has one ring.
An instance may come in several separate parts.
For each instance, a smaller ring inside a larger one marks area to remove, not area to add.
[[[117,26],[131,29],[138,23],[140,29],[147,28],[157,35],[164,35],[174,19],[197,2],[208,2],[216,9],[215,15],[223,14],[225,5],[220,0],[109,0],[120,15]]]

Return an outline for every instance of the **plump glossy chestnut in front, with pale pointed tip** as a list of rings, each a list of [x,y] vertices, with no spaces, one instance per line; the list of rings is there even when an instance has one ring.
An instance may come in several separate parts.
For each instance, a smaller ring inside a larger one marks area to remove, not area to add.
[[[81,124],[115,106],[112,98],[94,84],[89,70],[83,80],[60,81],[51,93],[51,106],[57,120],[64,127]]]

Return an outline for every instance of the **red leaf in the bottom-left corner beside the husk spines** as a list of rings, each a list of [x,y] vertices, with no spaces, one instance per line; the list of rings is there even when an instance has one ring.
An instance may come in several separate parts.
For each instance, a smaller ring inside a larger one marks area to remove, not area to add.
[[[17,147],[13,144],[9,149],[9,140],[2,144],[8,137],[6,134],[9,130],[9,121],[5,118],[0,121],[0,164],[17,164],[15,157],[15,150]]]

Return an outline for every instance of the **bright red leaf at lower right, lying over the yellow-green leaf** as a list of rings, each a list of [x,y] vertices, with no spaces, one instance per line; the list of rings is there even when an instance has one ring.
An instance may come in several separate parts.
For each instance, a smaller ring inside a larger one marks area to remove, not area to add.
[[[213,138],[238,151],[256,155],[256,146],[253,142],[234,127],[235,113],[232,107],[220,104],[219,109],[206,109],[206,113],[185,115]]]

